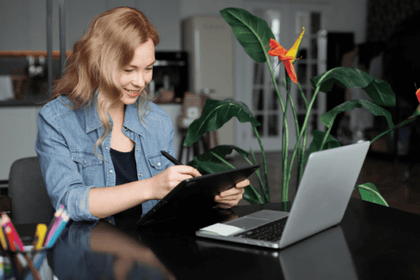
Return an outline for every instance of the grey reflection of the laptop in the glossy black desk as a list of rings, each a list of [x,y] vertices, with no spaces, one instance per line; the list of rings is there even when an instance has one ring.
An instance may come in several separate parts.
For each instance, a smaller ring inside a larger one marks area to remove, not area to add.
[[[266,269],[258,269],[255,276],[277,273],[288,280],[358,279],[339,225],[281,251],[207,239],[198,239],[196,243],[200,251],[206,251],[208,255],[237,251],[254,258],[257,256],[258,262],[264,263]]]

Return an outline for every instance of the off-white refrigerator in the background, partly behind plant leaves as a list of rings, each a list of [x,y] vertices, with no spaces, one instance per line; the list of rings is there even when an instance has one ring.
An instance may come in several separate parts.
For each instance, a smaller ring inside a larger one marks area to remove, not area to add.
[[[208,89],[211,99],[234,98],[233,32],[223,18],[199,15],[183,20],[183,49],[190,55],[190,91]],[[235,145],[235,121],[217,132],[219,145]]]

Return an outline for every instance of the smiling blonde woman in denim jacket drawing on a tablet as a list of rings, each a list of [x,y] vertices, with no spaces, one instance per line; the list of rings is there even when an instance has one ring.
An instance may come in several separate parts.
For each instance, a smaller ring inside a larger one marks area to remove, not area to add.
[[[38,115],[35,149],[48,195],[74,221],[139,218],[179,182],[200,176],[160,153],[175,151],[172,122],[145,91],[158,43],[139,10],[97,15]],[[236,205],[248,184],[217,195],[218,206]]]

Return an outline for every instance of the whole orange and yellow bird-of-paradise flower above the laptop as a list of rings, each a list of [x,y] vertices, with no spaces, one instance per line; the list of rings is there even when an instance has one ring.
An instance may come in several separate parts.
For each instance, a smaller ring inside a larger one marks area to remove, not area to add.
[[[300,43],[302,42],[302,36],[304,34],[304,27],[303,31],[300,36],[297,38],[293,47],[290,50],[286,50],[283,48],[276,40],[270,38],[269,39],[269,46],[271,50],[268,51],[268,54],[272,57],[279,57],[279,61],[283,62],[284,67],[288,73],[288,76],[297,84],[297,78],[295,73],[295,67],[293,67],[293,62],[295,62],[297,50],[300,47]]]

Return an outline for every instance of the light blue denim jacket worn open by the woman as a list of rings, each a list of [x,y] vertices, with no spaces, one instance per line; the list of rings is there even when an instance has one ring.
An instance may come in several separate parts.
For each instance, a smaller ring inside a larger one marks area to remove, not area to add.
[[[73,221],[97,220],[89,211],[90,188],[116,185],[110,154],[111,134],[103,145],[97,146],[104,159],[101,160],[94,155],[94,144],[104,132],[97,106],[73,110],[63,103],[71,105],[69,99],[59,97],[48,102],[38,114],[35,150],[45,186],[55,209],[64,204]],[[139,180],[151,178],[173,165],[160,151],[175,156],[174,127],[158,105],[151,103],[145,125],[139,121],[137,108],[127,105],[123,133],[134,141]],[[158,202],[144,202],[143,214]]]

